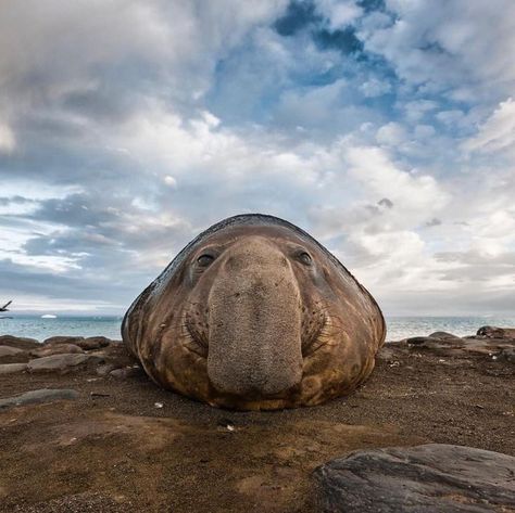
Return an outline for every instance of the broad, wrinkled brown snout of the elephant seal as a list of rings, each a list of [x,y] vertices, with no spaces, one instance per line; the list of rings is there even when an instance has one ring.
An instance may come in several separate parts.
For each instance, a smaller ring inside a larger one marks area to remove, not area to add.
[[[215,388],[271,396],[300,383],[299,285],[280,249],[243,238],[224,255],[209,304],[208,374]]]

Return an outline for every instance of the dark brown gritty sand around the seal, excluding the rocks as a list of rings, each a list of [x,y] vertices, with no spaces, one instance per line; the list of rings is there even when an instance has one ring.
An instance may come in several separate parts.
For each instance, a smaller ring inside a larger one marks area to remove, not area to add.
[[[80,398],[0,411],[0,511],[321,511],[312,471],[355,449],[436,441],[514,456],[514,369],[390,346],[348,398],[250,413],[145,375],[4,375],[0,397],[47,387]]]

